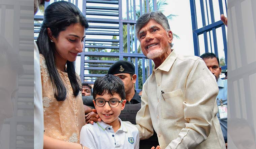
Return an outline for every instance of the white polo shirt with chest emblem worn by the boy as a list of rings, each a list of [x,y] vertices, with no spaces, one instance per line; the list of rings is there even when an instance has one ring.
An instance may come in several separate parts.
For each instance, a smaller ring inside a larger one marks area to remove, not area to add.
[[[115,133],[112,126],[103,121],[84,125],[80,143],[90,149],[138,149],[139,132],[134,125],[123,123]]]

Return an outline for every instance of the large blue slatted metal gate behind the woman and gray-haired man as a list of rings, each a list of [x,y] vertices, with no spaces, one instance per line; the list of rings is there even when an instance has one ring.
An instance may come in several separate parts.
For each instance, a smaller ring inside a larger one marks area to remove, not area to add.
[[[45,3],[45,8],[54,1]],[[137,80],[136,89],[152,73],[152,61],[140,50],[136,38],[135,24],[139,14],[157,10],[156,0],[68,0],[76,6],[82,2],[82,12],[89,21],[85,46],[81,57],[80,77],[82,82],[93,84],[97,77],[107,73],[111,64],[118,60],[127,60],[134,64]],[[152,7],[150,7],[152,6]],[[35,16],[42,21],[43,16]],[[35,23],[35,32],[40,23]],[[37,39],[35,37],[34,39]],[[154,65],[154,64],[153,64]]]

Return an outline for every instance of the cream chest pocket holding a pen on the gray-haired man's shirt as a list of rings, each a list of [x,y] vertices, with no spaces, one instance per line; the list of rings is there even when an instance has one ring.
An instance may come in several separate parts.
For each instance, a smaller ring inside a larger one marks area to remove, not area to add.
[[[184,117],[183,94],[181,89],[163,93],[160,96],[161,113],[164,119]]]

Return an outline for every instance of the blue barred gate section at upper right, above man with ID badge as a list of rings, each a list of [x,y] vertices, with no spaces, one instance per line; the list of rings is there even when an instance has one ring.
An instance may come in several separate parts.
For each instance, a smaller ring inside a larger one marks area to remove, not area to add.
[[[213,2],[214,3],[218,2],[217,5],[219,6],[219,13],[217,12],[217,8],[214,7]],[[195,55],[200,56],[204,52],[214,52],[217,55],[217,57],[219,57],[219,51],[221,49],[218,49],[216,30],[218,28],[221,28],[223,48],[224,48],[224,54],[225,54],[225,66],[222,66],[222,69],[226,69],[227,68],[227,37],[226,37],[225,25],[222,23],[222,21],[220,21],[220,14],[224,14],[223,3],[226,10],[225,12],[227,13],[226,0],[225,1],[224,0],[218,0],[218,1],[217,0],[215,1],[190,0],[190,10],[191,10]],[[218,17],[217,17],[219,18],[218,21],[216,21],[216,17],[215,17],[216,14],[218,14]],[[197,19],[198,16],[201,17],[202,20]],[[200,21],[202,22],[202,27],[198,28],[198,26],[201,26],[201,24],[199,24]],[[203,34],[203,43],[199,43],[199,35],[202,35],[202,34]],[[218,38],[220,38],[220,36],[218,36]],[[204,44],[204,47],[199,47],[199,45],[202,46],[203,44]]]

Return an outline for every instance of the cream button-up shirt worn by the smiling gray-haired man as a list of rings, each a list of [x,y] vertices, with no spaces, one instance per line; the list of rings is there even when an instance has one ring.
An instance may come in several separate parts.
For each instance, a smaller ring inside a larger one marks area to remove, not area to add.
[[[153,135],[154,127],[161,149],[225,149],[216,116],[218,85],[201,58],[173,50],[142,90],[140,139]]]

